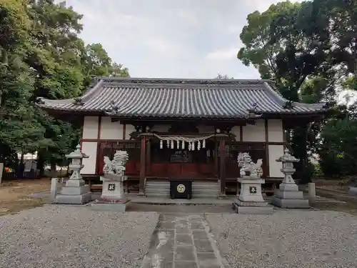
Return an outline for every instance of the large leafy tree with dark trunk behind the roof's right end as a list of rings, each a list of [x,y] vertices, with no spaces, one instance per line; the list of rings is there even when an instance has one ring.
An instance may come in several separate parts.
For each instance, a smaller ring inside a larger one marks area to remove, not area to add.
[[[289,1],[271,5],[263,13],[249,14],[248,25],[241,32],[244,46],[238,51],[238,59],[255,66],[261,78],[276,81],[286,99],[320,101],[326,89],[319,87],[316,91],[311,85],[322,85],[335,75],[328,63],[328,18],[320,14],[313,2]],[[332,84],[330,87],[333,89]],[[296,176],[303,179],[311,175],[307,154],[311,129],[311,125],[302,124],[288,131],[293,154],[301,159]]]

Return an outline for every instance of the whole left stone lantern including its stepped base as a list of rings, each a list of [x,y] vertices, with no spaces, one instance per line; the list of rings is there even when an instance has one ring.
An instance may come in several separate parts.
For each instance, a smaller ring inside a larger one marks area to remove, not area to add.
[[[54,203],[56,204],[85,204],[91,201],[91,192],[89,186],[85,185],[81,176],[81,169],[84,168],[82,161],[88,158],[86,154],[81,152],[81,146],[77,145],[76,151],[66,155],[71,159],[69,169],[72,172],[71,177],[66,182],[66,185],[61,189],[61,193],[56,196]]]

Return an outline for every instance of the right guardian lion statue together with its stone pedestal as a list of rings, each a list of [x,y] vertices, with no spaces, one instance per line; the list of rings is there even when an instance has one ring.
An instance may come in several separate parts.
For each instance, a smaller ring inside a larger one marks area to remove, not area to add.
[[[238,178],[238,182],[241,183],[241,193],[232,204],[238,214],[273,213],[273,207],[264,201],[261,194],[261,184],[265,183],[265,180],[261,179],[262,164],[262,159],[258,159],[256,164],[253,163],[248,153],[238,154],[238,165],[241,167],[241,178]]]

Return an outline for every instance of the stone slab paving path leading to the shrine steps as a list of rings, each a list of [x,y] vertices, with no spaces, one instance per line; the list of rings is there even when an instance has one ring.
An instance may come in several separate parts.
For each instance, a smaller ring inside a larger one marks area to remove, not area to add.
[[[203,215],[161,214],[142,268],[228,268]]]

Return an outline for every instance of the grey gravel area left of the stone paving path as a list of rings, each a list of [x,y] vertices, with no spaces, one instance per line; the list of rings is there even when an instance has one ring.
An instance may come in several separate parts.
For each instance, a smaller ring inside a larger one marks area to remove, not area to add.
[[[1,268],[141,267],[159,214],[50,205],[0,217]]]

